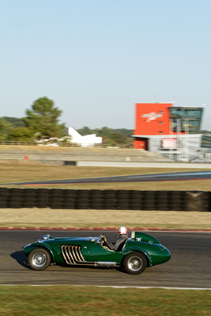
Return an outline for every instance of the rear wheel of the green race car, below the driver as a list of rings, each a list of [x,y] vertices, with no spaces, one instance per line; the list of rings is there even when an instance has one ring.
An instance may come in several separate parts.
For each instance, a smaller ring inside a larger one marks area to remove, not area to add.
[[[124,258],[123,266],[129,275],[139,275],[146,269],[146,256],[138,251],[131,252]]]

